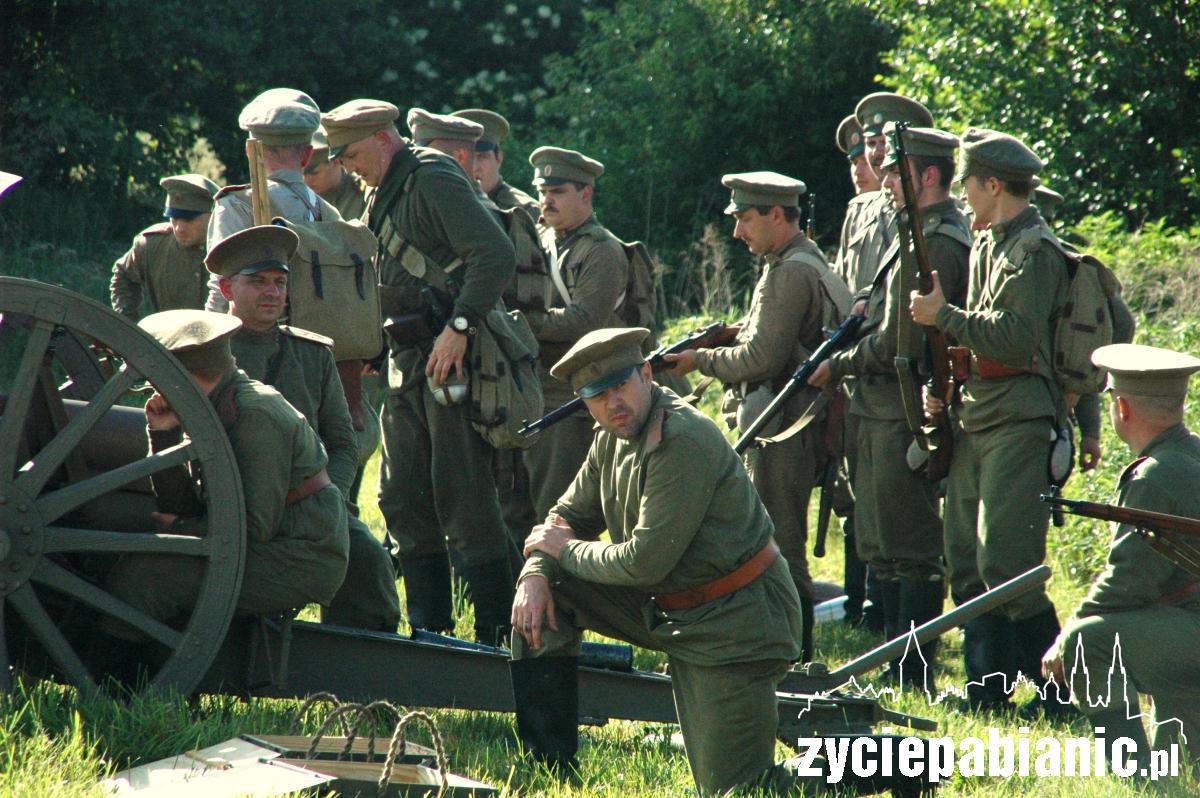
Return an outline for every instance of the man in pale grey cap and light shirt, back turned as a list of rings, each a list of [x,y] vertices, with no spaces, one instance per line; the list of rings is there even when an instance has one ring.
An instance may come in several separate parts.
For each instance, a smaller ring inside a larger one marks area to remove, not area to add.
[[[312,137],[319,124],[320,109],[317,103],[295,89],[269,89],[251,100],[238,115],[238,126],[250,133],[250,139],[263,143],[271,217],[282,216],[293,222],[342,218],[336,208],[317,196],[304,181],[304,168],[312,157]],[[246,155],[251,151],[251,143],[247,140]],[[226,186],[216,200],[212,218],[209,220],[209,250],[222,239],[254,224],[248,185]],[[215,275],[209,280],[206,307],[220,313],[228,310]]]

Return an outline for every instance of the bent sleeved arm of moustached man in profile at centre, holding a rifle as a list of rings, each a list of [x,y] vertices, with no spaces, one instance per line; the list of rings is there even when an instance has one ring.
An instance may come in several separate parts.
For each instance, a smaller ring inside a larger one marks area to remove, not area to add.
[[[757,320],[743,328],[732,347],[700,349],[701,373],[724,383],[779,376],[800,341],[802,326],[820,308],[821,286],[811,269],[778,264],[763,278]]]

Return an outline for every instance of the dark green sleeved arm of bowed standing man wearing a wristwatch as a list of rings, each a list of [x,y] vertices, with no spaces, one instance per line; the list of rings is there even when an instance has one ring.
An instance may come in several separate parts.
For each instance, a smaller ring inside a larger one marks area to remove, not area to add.
[[[516,269],[512,242],[460,169],[431,164],[415,174],[420,190],[414,190],[414,202],[420,218],[463,262],[455,271],[462,288],[455,298],[454,313],[481,319],[512,278]]]

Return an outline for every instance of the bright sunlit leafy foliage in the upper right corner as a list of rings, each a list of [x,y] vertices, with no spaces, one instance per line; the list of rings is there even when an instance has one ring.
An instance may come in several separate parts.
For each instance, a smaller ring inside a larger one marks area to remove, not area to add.
[[[886,83],[952,130],[994,127],[1049,161],[1066,214],[1186,223],[1200,210],[1200,28],[1174,0],[865,0],[901,30]]]

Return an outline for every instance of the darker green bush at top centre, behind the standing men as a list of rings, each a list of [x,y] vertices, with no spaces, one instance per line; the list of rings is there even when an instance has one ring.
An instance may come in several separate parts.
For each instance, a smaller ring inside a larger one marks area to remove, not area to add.
[[[588,22],[574,54],[550,59],[538,115],[547,143],[607,164],[596,202],[618,235],[670,260],[724,228],[720,175],[756,169],[805,180],[822,234],[838,229],[851,185],[834,131],[881,71],[887,25],[810,0],[631,0]]]

